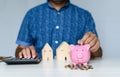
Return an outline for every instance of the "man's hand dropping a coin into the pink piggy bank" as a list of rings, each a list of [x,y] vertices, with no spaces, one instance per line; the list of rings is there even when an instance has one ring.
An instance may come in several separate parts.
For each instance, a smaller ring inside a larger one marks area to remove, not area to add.
[[[78,40],[78,44],[89,44],[92,55],[95,54],[96,57],[102,56],[100,41],[92,32],[87,32],[81,40]]]

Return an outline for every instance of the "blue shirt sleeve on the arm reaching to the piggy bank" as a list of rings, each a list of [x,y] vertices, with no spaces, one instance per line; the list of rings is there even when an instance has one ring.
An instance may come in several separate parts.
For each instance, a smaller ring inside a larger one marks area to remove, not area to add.
[[[98,37],[94,19],[89,12],[86,15],[86,24],[85,24],[85,28],[84,28],[84,33],[86,33],[86,32],[92,32],[92,33],[96,34],[96,36]]]

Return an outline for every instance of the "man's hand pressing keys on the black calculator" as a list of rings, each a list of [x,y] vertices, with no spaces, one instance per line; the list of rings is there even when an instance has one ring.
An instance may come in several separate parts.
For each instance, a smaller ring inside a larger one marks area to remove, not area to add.
[[[15,56],[18,58],[35,58],[38,55],[36,53],[34,46],[28,46],[28,47],[18,46],[16,49]]]

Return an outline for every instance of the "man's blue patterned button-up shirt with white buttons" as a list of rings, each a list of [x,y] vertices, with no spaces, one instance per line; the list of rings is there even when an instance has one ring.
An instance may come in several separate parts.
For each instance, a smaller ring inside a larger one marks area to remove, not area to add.
[[[88,31],[97,35],[94,20],[88,11],[69,1],[57,11],[47,2],[26,13],[16,43],[22,46],[34,45],[39,57],[45,43],[49,43],[55,56],[56,48],[63,41],[77,44]]]

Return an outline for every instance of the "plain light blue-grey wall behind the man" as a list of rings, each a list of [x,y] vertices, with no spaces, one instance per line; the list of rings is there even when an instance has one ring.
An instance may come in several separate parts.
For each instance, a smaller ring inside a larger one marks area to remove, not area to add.
[[[28,9],[47,0],[0,0],[0,55],[14,56],[16,38]],[[120,0],[71,0],[90,11],[96,23],[103,57],[120,58]]]

